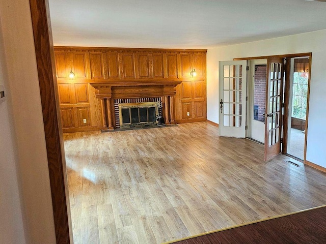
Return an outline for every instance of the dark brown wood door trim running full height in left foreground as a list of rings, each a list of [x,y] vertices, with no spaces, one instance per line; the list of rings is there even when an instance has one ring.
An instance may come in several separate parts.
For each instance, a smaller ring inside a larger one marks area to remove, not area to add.
[[[73,243],[48,0],[30,0],[56,243]]]

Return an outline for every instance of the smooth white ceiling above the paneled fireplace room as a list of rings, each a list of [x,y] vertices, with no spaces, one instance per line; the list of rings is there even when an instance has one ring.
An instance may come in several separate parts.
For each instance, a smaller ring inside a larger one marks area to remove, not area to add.
[[[326,29],[304,0],[49,0],[56,46],[212,48]]]

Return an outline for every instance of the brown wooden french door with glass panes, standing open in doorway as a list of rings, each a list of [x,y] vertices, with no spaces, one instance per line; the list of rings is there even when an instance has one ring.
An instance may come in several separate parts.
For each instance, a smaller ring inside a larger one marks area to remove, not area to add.
[[[265,161],[281,153],[283,64],[283,58],[267,58],[266,110],[264,114]]]

